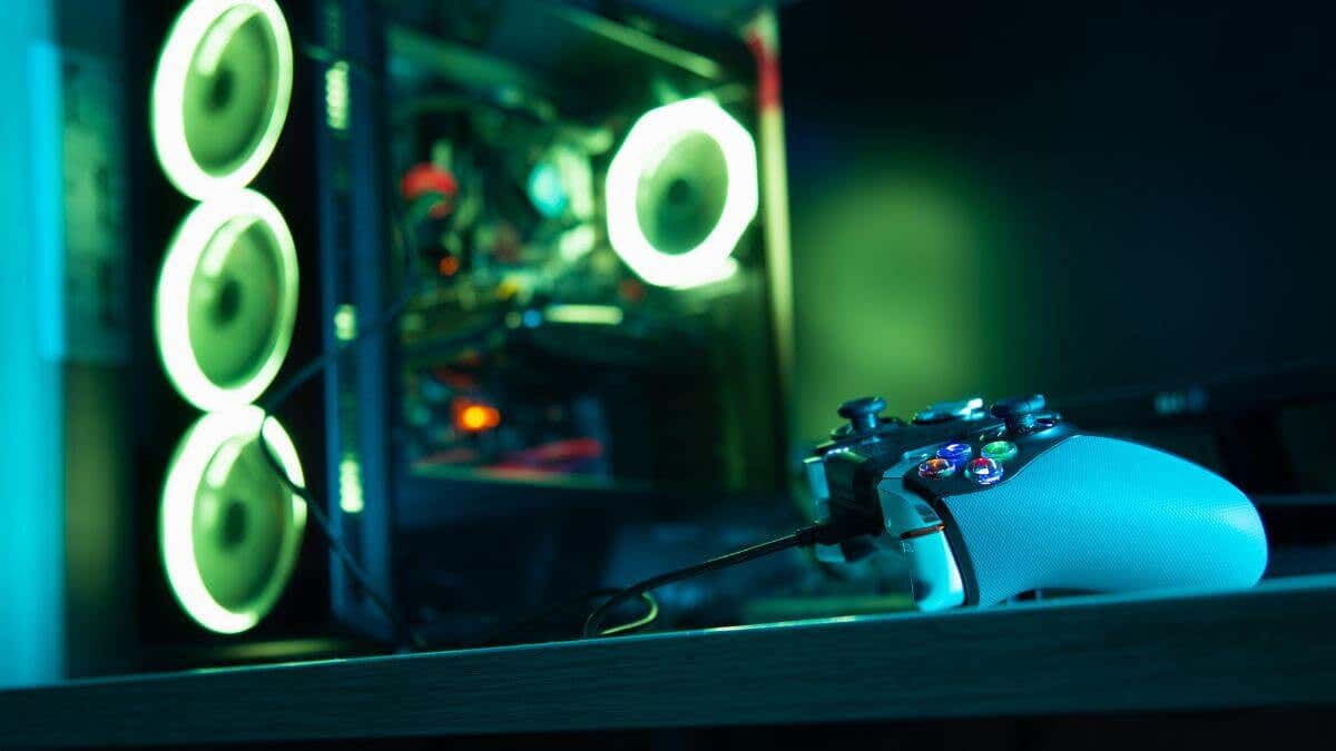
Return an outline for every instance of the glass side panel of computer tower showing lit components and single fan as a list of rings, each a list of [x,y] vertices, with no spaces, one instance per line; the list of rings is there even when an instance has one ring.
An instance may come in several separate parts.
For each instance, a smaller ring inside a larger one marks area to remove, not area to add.
[[[399,466],[573,489],[778,486],[740,41],[709,56],[576,8],[484,5],[414,8],[387,29],[401,286],[424,290],[393,374]]]

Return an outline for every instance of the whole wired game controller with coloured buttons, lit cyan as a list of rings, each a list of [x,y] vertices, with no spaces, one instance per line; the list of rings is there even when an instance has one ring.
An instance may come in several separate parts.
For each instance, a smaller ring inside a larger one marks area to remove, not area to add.
[[[922,611],[1037,591],[1250,587],[1267,568],[1252,502],[1176,456],[1086,433],[1042,396],[941,402],[904,422],[868,397],[806,461],[818,521],[852,531],[828,563],[904,557]]]

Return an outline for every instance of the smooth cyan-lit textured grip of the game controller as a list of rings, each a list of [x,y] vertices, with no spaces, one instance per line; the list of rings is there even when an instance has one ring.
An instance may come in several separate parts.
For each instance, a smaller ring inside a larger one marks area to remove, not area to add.
[[[982,605],[1045,588],[1250,587],[1267,568],[1261,518],[1237,488],[1114,438],[1074,436],[998,486],[942,502]]]

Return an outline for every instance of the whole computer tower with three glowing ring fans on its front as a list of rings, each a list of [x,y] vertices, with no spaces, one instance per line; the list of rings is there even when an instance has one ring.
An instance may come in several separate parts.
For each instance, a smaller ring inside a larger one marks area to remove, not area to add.
[[[791,513],[778,69],[664,11],[164,1],[67,56],[71,675],[383,651],[379,595],[473,644]]]

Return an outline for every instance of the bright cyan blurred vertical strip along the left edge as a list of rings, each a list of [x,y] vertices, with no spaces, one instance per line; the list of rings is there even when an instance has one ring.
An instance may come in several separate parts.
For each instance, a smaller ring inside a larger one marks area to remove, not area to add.
[[[55,8],[25,3],[0,32],[0,82],[15,106],[0,114],[8,166],[0,180],[7,251],[0,258],[0,688],[59,680],[65,669],[61,525],[64,482],[60,302],[60,59]]]

